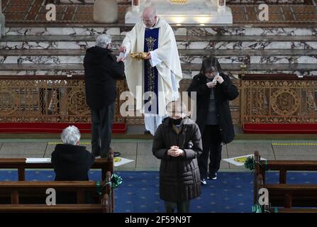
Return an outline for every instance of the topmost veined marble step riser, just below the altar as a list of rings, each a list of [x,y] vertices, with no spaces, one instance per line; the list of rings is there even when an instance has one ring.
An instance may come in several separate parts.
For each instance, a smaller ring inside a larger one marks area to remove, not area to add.
[[[118,26],[118,24],[6,24],[6,35],[99,35],[99,34],[109,34],[109,35],[125,35],[127,31],[130,31],[133,26],[123,24]],[[306,26],[301,25],[229,25],[229,26],[201,26],[201,25],[191,25],[191,26],[172,26],[175,35],[223,35],[223,36],[233,36],[233,35],[261,35],[261,36],[296,36],[296,35],[317,35],[316,26]]]

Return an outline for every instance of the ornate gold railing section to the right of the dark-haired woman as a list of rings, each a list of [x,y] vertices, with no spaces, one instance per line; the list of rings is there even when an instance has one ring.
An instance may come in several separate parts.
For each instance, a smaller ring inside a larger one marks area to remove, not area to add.
[[[241,123],[317,123],[317,77],[245,74]]]

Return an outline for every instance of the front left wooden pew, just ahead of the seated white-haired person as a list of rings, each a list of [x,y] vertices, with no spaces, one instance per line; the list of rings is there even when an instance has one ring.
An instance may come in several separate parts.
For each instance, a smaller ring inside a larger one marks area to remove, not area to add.
[[[18,181],[26,180],[27,169],[53,169],[52,163],[26,163],[26,158],[0,158],[0,169],[18,170]],[[106,178],[106,172],[113,174],[113,153],[107,158],[96,158],[91,170],[101,169],[101,180]],[[112,211],[114,211],[114,190],[111,190]]]

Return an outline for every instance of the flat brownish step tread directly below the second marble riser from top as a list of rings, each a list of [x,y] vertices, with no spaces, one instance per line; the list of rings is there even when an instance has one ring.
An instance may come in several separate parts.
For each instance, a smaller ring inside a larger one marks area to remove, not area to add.
[[[51,50],[0,50],[0,56],[82,56],[85,55],[86,50],[74,49],[51,49]],[[118,55],[118,50],[113,51],[114,55]],[[273,49],[273,50],[179,50],[180,56],[301,56],[301,55],[317,55],[317,49],[306,50],[287,50],[287,49]]]

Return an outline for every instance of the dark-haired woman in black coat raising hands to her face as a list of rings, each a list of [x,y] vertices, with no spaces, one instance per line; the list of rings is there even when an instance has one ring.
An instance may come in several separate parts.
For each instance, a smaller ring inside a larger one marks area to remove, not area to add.
[[[235,137],[229,101],[239,93],[230,77],[222,72],[216,57],[204,59],[200,73],[193,78],[187,92],[189,96],[196,92],[196,123],[203,142],[198,164],[201,184],[207,184],[206,179],[217,179],[222,143],[230,143]]]

